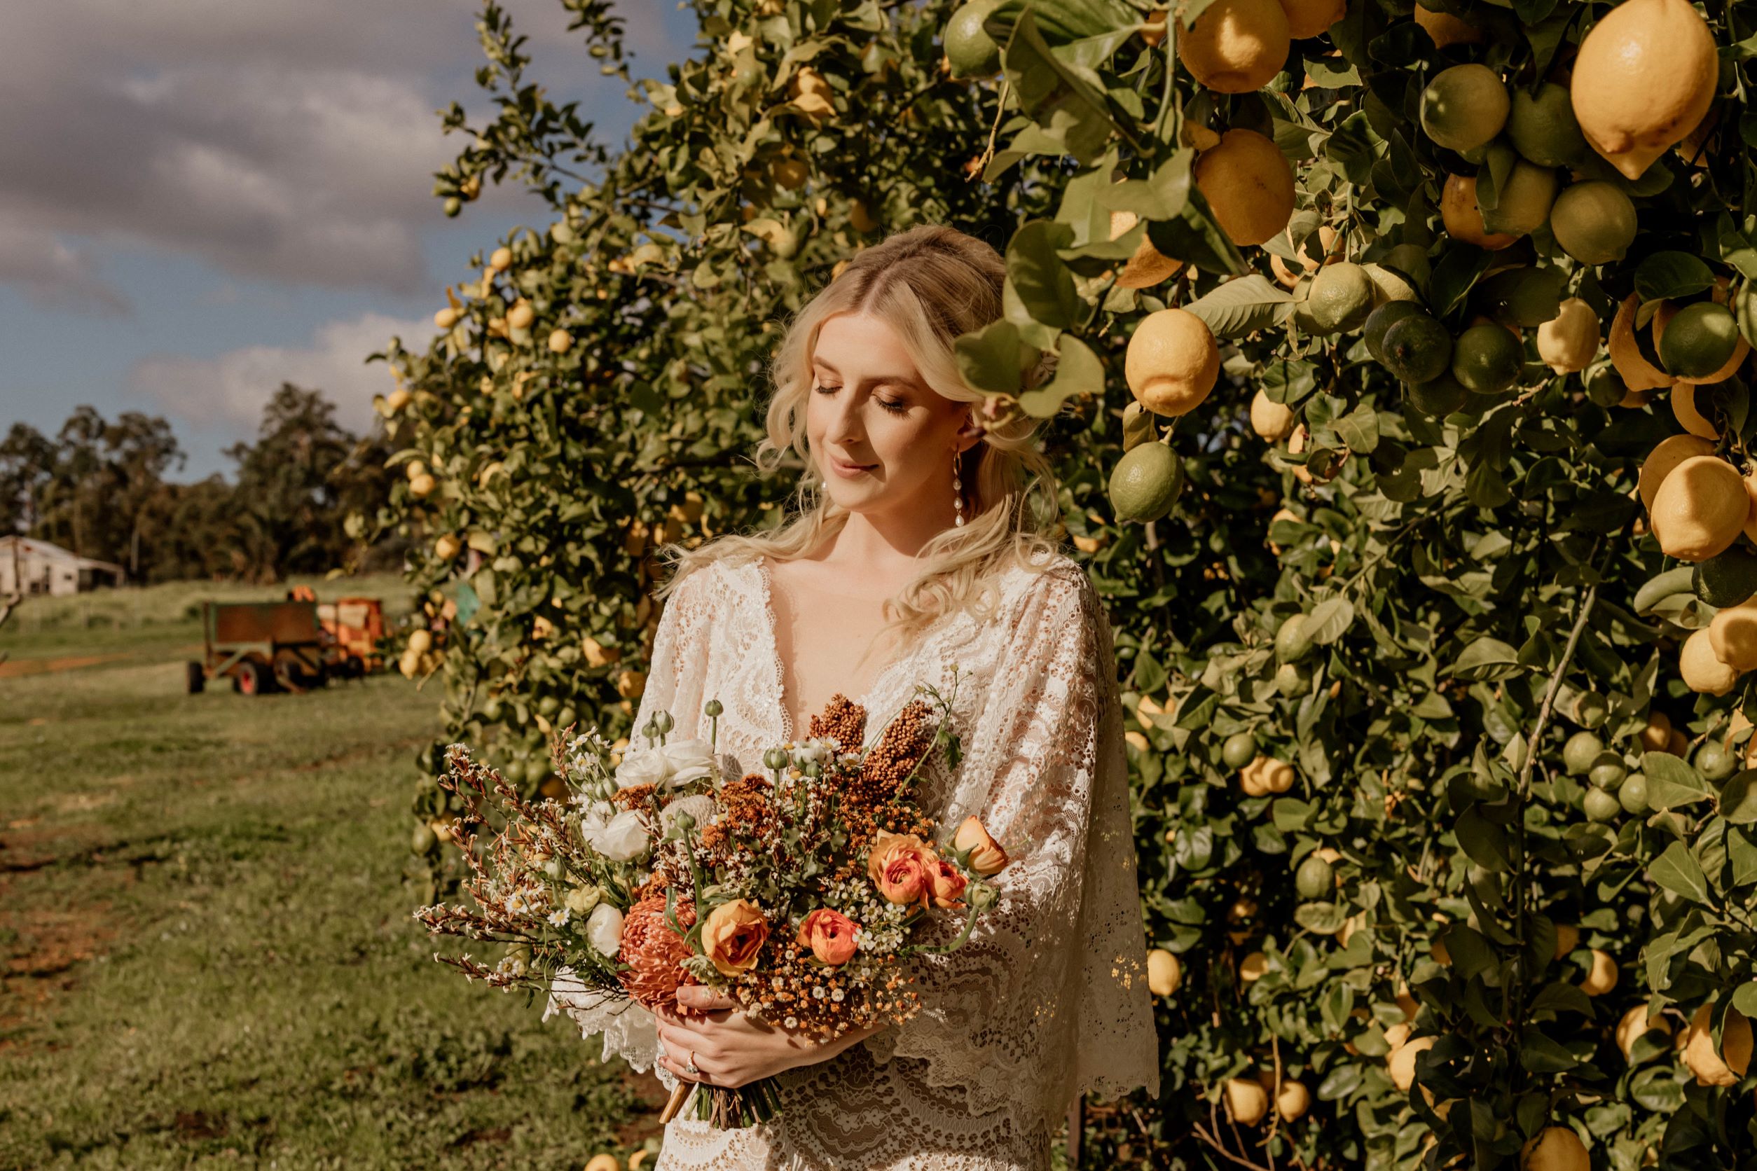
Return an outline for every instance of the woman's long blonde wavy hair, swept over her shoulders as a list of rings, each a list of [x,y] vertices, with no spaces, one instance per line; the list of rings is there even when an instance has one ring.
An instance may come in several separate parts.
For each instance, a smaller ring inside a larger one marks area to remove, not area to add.
[[[757,444],[763,478],[782,471],[787,451],[805,462],[791,518],[775,530],[724,534],[696,548],[671,542],[659,557],[675,572],[654,590],[664,597],[691,572],[720,558],[745,564],[759,557],[794,560],[817,550],[849,521],[849,509],[824,492],[824,478],[806,444],[805,413],[812,393],[812,351],[824,321],[843,313],[870,313],[903,339],[915,369],[936,393],[954,402],[982,404],[965,384],[952,342],[1001,316],[1007,263],[989,244],[938,225],[898,232],[850,258],[840,276],[794,314],[775,351],[775,397],[768,406],[768,437]],[[1037,386],[1054,369],[1054,355],[1026,376]],[[980,421],[980,409],[975,413]],[[1009,567],[1047,569],[1061,551],[1058,485],[1049,460],[1033,444],[1040,420],[1014,414],[989,423],[984,437],[959,456],[965,523],[933,535],[917,555],[921,572],[886,602],[887,632],[917,636],[942,614],[994,613],[993,579]],[[1035,495],[1035,502],[1033,502]]]

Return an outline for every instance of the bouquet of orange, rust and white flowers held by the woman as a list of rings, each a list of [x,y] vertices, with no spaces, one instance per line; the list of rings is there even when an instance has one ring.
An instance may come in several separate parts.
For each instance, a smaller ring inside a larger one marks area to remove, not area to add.
[[[552,748],[564,801],[522,801],[452,744],[441,785],[466,806],[452,841],[474,906],[439,902],[415,916],[430,934],[504,953],[492,964],[434,959],[504,990],[548,994],[560,980],[597,1004],[648,1009],[676,1009],[678,987],[710,985],[824,1041],[914,1017],[908,957],[963,946],[996,902],[987,880],[1007,866],[977,818],[936,843],[917,804],[922,764],[942,750],[951,767],[959,760],[951,704],[917,686],[864,746],[866,711],[836,695],[808,739],[770,748],[750,772],[717,751],[720,711],[717,700],[703,708],[710,739],[669,743],[673,718],[655,711],[640,732],[647,750],[615,769],[596,729],[568,729]],[[488,827],[490,801],[501,829]],[[936,922],[959,920],[947,943],[926,941]],[[678,1083],[666,1120],[692,1085]],[[696,1117],[719,1127],[780,1106],[766,1078],[701,1088]]]

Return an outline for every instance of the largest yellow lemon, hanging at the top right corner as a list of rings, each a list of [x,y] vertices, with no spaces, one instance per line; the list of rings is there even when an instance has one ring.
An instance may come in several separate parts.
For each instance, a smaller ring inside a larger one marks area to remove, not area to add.
[[[1688,0],[1625,0],[1574,56],[1574,118],[1629,179],[1696,130],[1715,100],[1715,37]]]

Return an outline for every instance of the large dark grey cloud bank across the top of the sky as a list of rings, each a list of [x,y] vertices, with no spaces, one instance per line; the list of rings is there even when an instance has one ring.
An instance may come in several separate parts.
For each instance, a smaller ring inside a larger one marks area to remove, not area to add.
[[[645,70],[669,56],[661,4],[624,4]],[[529,37],[532,79],[594,86],[604,109],[622,102],[618,83],[583,68],[582,37],[555,0],[508,7]],[[478,0],[12,9],[0,109],[18,116],[0,118],[0,226],[39,246],[5,251],[0,281],[116,309],[91,265],[54,244],[77,235],[93,251],[158,248],[239,279],[387,293],[430,284],[420,230],[443,223],[432,172],[460,146],[436,109],[480,105],[469,81]]]

